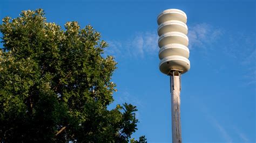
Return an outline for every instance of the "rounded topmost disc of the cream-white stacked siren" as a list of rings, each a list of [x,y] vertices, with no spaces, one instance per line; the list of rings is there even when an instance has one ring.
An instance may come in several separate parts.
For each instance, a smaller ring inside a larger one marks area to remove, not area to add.
[[[179,20],[183,23],[187,23],[187,15],[185,12],[178,9],[167,9],[159,14],[157,17],[157,23],[160,25],[167,20]]]

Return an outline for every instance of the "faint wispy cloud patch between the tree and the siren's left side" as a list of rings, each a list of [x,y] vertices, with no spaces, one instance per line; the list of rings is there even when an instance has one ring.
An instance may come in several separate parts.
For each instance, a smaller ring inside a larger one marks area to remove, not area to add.
[[[116,57],[144,58],[145,55],[152,55],[158,52],[158,35],[156,32],[137,32],[125,41],[109,40],[109,47],[106,54]]]

